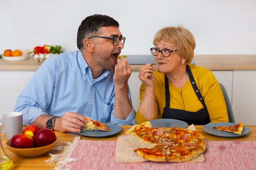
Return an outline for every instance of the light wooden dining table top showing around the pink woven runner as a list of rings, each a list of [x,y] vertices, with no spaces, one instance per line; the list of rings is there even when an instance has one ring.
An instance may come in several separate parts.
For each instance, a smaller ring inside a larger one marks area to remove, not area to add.
[[[119,133],[112,135],[111,137],[90,138],[90,137],[81,136],[81,139],[83,139],[83,140],[116,141],[119,136],[126,135],[126,131],[128,131],[128,129],[130,129],[130,127],[132,127],[132,126],[121,126],[121,127],[122,127],[122,130]],[[204,136],[204,139],[206,141],[234,141],[234,140],[235,141],[256,141],[256,125],[248,125],[247,127],[250,129],[250,132],[247,135],[237,137],[237,138],[223,138],[223,137],[209,135],[208,133],[205,133],[202,130],[202,125],[196,125],[195,129]],[[55,147],[64,146],[65,142],[72,142],[74,140],[74,137],[79,136],[78,133],[60,133],[58,131],[55,131],[55,133],[58,138],[58,142]],[[38,157],[31,157],[31,158],[21,157],[21,156],[11,153],[7,149],[7,147],[6,147],[7,137],[5,136],[4,133],[1,133],[1,138],[2,138],[2,145],[4,147],[4,150],[6,151],[7,155],[9,155],[9,157],[13,160],[12,170],[53,170],[54,169],[55,165],[49,165],[49,162],[45,162],[45,160],[50,158],[48,153],[45,153]],[[56,154],[56,153],[60,153],[60,152],[50,151],[49,153]]]

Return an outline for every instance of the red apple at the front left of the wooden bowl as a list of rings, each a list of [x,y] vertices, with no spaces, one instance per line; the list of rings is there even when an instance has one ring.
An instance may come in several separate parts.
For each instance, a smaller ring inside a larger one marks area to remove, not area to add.
[[[11,138],[11,147],[13,148],[33,148],[33,137],[27,134],[17,134]]]

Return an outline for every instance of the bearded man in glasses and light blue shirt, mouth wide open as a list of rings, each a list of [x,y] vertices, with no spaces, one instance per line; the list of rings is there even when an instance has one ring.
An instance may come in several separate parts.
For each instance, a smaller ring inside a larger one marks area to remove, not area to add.
[[[78,51],[50,57],[18,96],[23,123],[65,133],[80,132],[88,120],[134,124],[129,63],[117,57],[125,37],[106,15],[86,17],[77,33]]]

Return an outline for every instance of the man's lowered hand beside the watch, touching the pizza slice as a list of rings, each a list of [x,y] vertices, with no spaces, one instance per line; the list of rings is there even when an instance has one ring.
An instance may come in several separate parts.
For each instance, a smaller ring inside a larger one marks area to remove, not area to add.
[[[78,113],[73,113],[67,111],[63,116],[55,119],[55,131],[65,132],[81,132],[81,129],[86,127],[88,119],[79,115]]]

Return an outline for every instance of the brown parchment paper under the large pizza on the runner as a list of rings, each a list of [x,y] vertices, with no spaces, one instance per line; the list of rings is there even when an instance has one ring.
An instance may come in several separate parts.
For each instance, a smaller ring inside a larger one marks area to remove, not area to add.
[[[195,131],[195,126],[191,124],[187,129]],[[116,157],[117,163],[122,162],[144,162],[148,161],[137,155],[133,150],[135,148],[153,148],[156,144],[145,142],[133,135],[120,136],[117,139]],[[204,162],[204,155],[201,154],[195,159],[187,162]]]

